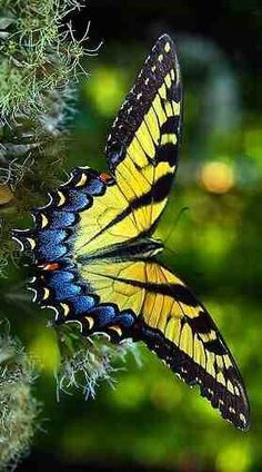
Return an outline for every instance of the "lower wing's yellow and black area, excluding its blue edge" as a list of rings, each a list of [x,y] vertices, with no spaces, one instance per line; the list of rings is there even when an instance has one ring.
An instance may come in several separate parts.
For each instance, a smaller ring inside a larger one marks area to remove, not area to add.
[[[235,362],[206,309],[175,275],[155,262],[94,262],[80,266],[101,303],[134,313],[127,332],[108,326],[111,336],[143,341],[222,416],[240,429],[249,426],[249,402]]]

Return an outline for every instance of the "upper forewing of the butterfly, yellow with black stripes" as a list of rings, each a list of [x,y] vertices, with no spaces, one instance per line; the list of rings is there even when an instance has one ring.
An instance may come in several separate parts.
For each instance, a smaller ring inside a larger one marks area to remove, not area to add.
[[[173,181],[181,100],[175,47],[163,35],[127,96],[105,149],[109,168],[144,233],[152,232]]]

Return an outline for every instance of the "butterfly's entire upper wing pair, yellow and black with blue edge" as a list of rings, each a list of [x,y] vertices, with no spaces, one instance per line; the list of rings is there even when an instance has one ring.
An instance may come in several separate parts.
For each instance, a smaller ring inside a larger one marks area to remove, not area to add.
[[[111,176],[74,169],[49,204],[36,209],[37,258],[90,256],[152,233],[177,168],[180,127],[179,63],[174,45],[164,35],[112,127],[107,145]],[[28,237],[34,248],[33,234]]]

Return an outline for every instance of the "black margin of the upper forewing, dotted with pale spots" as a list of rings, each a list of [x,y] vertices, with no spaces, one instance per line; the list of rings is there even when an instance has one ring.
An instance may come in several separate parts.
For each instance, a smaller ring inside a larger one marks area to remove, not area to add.
[[[105,147],[108,165],[112,174],[117,165],[124,159],[128,146],[131,144],[135,131],[152,106],[152,101],[163,85],[164,78],[171,70],[174,73],[174,79],[172,80],[171,88],[168,89],[169,96],[165,99],[160,97],[163,109],[167,99],[180,102],[182,98],[180,69],[175,47],[172,39],[168,35],[163,35],[152,48],[150,56],[138,76],[134,87],[128,94],[112,125]],[[180,117],[168,118],[164,125],[161,126],[159,124],[159,128],[161,135],[174,132],[175,129],[179,130]],[[177,158],[177,145],[170,144],[169,148],[171,149],[168,149],[165,146],[160,146],[155,160],[170,161],[173,159],[174,163]]]

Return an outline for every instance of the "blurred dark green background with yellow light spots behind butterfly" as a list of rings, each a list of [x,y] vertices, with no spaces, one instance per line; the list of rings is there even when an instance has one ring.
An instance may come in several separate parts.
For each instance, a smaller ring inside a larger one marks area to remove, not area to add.
[[[67,170],[105,169],[110,125],[152,43],[169,32],[182,69],[184,125],[158,235],[163,259],[205,304],[238,361],[252,425],[235,430],[142,346],[142,366],[130,356],[114,390],[103,384],[95,400],[75,392],[58,403],[54,334],[42,311],[20,305],[12,327],[40,360],[43,420],[19,470],[262,471],[261,2],[206,9],[182,0],[90,0],[73,17],[80,37],[88,19],[90,48],[104,45],[88,58],[90,77],[79,83]]]

